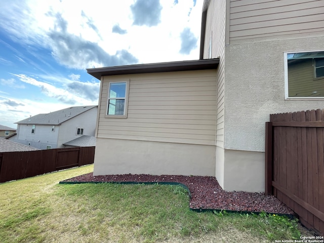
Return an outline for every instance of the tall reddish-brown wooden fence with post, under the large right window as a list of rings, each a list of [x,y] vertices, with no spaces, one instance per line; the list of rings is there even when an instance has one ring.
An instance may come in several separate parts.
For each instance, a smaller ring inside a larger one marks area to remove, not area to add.
[[[265,193],[324,233],[324,110],[271,114],[266,123]]]

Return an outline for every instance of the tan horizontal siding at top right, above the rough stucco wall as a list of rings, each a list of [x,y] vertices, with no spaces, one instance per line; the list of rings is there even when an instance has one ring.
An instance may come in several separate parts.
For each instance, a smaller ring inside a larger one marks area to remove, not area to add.
[[[322,34],[324,1],[280,0],[230,2],[230,42],[277,36]]]

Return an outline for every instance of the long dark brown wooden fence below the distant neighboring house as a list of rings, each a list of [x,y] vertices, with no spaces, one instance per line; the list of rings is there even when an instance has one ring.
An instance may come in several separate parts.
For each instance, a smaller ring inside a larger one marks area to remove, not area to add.
[[[95,147],[1,152],[0,182],[93,164]]]

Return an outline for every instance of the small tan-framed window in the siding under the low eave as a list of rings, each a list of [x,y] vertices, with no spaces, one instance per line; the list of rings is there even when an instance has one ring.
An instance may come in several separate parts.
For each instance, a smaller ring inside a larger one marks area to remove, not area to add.
[[[107,115],[127,117],[127,96],[129,82],[110,82]]]

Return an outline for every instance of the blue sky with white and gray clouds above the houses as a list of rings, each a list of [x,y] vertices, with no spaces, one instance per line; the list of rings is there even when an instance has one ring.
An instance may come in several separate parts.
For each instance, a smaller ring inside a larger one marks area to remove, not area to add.
[[[199,58],[203,0],[0,1],[0,124],[96,105],[86,68]]]

